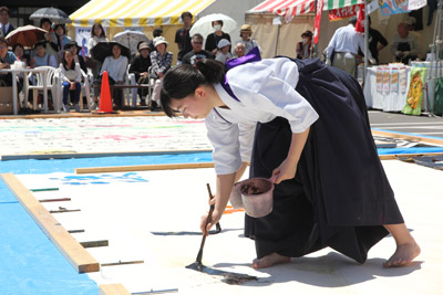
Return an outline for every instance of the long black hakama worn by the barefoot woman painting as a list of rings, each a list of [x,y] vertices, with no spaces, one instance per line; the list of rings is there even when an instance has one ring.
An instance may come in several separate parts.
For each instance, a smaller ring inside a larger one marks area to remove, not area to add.
[[[403,223],[371,135],[362,89],[348,73],[319,60],[295,60],[299,92],[319,114],[296,177],[276,185],[274,209],[246,215],[257,257],[299,257],[330,246],[363,263],[369,249]],[[250,177],[270,177],[291,143],[287,119],[257,124]]]

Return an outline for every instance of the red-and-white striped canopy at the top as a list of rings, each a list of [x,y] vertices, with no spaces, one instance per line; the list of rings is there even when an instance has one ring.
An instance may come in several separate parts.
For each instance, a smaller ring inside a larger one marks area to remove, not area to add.
[[[301,15],[313,11],[315,0],[266,0],[248,12],[272,12],[278,15]]]

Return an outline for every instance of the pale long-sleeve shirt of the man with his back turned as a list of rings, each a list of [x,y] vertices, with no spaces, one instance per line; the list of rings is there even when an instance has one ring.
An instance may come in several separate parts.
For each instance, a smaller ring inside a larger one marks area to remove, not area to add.
[[[359,48],[364,53],[364,36],[362,33],[356,32],[356,27],[348,24],[336,31],[326,51],[328,59],[331,59],[332,51],[357,54]],[[368,54],[370,54],[369,51]]]

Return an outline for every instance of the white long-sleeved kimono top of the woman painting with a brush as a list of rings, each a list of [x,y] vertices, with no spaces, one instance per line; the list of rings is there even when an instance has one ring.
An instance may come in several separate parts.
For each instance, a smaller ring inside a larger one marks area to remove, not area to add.
[[[229,86],[239,102],[220,84],[215,85],[229,107],[216,107],[205,119],[217,175],[233,173],[249,159],[257,122],[268,123],[280,116],[288,119],[292,133],[302,133],[318,119],[317,112],[295,89],[298,77],[297,64],[280,57],[228,71]]]

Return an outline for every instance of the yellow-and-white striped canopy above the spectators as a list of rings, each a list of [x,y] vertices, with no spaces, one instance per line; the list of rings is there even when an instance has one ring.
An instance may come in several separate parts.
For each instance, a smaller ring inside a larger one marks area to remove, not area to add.
[[[197,15],[216,0],[91,0],[70,15],[72,25],[154,27],[178,24],[183,11]]]

